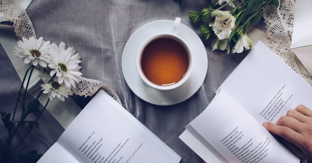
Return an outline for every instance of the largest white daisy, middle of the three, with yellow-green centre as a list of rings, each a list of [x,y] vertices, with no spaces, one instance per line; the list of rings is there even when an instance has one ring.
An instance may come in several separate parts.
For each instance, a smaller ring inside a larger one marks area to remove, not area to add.
[[[81,81],[82,73],[79,71],[81,67],[78,65],[81,61],[79,60],[80,55],[74,54],[75,50],[65,47],[63,45],[57,49],[48,51],[51,55],[50,64],[48,65],[51,69],[50,75],[53,76],[56,73],[58,83],[63,82],[67,87],[76,87],[75,82]]]

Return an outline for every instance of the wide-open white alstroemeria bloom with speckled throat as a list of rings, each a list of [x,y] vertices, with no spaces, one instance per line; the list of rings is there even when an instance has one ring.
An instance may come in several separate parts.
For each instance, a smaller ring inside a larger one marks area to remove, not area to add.
[[[212,17],[216,17],[215,21],[210,23],[214,33],[220,40],[230,37],[232,30],[235,27],[236,17],[230,11],[216,10],[212,13]]]

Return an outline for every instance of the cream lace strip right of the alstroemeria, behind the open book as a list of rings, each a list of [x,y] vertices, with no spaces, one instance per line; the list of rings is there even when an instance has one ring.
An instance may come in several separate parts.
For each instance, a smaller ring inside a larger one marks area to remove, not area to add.
[[[295,61],[295,53],[290,50],[295,0],[279,1],[279,8],[271,7],[263,15],[266,23],[266,34],[271,42],[271,49],[305,81],[312,85],[312,77],[299,72]]]

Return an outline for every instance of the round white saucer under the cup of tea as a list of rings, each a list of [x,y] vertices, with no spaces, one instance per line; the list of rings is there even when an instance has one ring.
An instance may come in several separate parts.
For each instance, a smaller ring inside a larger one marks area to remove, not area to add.
[[[142,100],[155,105],[174,105],[187,100],[202,85],[208,66],[206,49],[197,34],[184,24],[180,24],[178,36],[182,37],[194,55],[193,72],[189,79],[176,89],[160,91],[147,85],[136,69],[136,54],[144,40],[161,32],[172,31],[174,21],[158,20],[140,27],[129,38],[122,55],[122,71],[130,89]]]

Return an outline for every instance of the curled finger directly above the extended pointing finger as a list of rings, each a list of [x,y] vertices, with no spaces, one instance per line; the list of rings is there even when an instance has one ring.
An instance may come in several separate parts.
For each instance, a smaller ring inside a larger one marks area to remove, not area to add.
[[[299,133],[302,133],[305,130],[300,121],[290,116],[281,116],[276,122],[276,125],[289,127]]]

